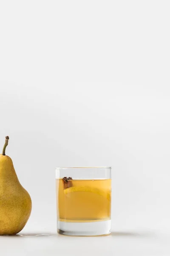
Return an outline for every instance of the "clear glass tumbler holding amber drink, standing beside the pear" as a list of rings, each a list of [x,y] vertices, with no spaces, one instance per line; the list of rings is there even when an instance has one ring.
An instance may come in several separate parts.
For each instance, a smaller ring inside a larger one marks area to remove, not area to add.
[[[111,233],[111,167],[57,167],[57,232]]]

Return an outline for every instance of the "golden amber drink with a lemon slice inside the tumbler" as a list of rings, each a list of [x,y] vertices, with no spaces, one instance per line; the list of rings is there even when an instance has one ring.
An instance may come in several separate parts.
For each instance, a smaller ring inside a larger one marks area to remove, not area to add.
[[[57,179],[57,217],[59,221],[90,222],[111,219],[111,179],[71,180],[64,187]]]

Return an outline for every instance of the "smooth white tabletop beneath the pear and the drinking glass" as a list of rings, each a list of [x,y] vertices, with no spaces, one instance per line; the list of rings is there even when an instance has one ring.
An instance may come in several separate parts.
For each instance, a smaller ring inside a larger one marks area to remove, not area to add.
[[[170,234],[115,232],[109,236],[72,237],[45,233],[0,237],[2,255],[14,256],[169,256]]]

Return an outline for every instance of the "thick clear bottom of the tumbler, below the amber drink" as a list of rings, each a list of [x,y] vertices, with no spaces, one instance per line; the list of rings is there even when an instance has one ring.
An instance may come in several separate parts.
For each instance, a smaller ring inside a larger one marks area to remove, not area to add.
[[[57,232],[67,236],[103,236],[111,233],[111,220],[96,222],[57,221]]]

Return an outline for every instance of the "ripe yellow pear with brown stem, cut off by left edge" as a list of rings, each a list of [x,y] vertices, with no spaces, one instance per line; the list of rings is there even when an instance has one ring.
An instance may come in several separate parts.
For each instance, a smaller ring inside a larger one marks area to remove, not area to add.
[[[31,214],[31,198],[21,186],[12,160],[5,150],[9,137],[6,137],[3,153],[0,154],[0,235],[14,235],[26,225]]]

